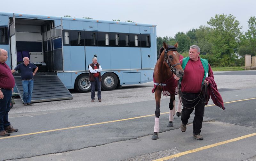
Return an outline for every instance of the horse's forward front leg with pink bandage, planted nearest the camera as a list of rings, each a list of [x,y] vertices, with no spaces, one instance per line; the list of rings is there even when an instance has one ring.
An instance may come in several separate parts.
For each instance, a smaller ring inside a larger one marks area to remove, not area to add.
[[[156,140],[158,139],[158,133],[159,133],[159,116],[160,116],[160,100],[161,100],[161,90],[156,88],[155,91],[155,99],[156,99],[156,111],[155,111],[155,126],[154,126],[154,134],[152,135],[151,139]]]

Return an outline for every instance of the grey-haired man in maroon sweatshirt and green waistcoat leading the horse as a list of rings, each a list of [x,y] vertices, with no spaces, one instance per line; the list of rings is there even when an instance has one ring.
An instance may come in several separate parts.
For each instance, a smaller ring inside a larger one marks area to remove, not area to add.
[[[203,82],[205,82],[207,86],[209,85],[209,82],[204,80],[205,77],[214,77],[210,64],[208,64],[207,60],[200,58],[199,54],[200,48],[196,45],[192,45],[189,49],[189,59],[187,57],[180,60],[181,64],[184,63],[185,65],[185,63],[187,63],[183,68],[184,76],[181,78],[183,109],[181,111],[182,124],[180,129],[182,132],[186,131],[186,125],[188,124],[190,114],[195,109],[195,117],[193,121],[193,138],[196,138],[197,140],[203,140],[204,138],[200,133],[204,117],[205,100],[200,99],[198,96],[201,91]],[[176,80],[179,79],[179,77],[176,77]]]

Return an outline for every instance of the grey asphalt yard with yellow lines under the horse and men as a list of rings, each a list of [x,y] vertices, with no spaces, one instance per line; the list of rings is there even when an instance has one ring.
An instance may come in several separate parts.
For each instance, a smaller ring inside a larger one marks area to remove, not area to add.
[[[166,127],[168,97],[161,100],[159,139],[151,140],[155,100],[150,82],[103,91],[102,102],[91,103],[90,93],[75,92],[73,100],[33,106],[16,99],[10,121],[19,131],[0,137],[0,160],[255,161],[255,72],[214,75],[226,110],[212,101],[205,107],[203,141],[192,138],[193,115],[185,133],[177,117],[174,127]]]

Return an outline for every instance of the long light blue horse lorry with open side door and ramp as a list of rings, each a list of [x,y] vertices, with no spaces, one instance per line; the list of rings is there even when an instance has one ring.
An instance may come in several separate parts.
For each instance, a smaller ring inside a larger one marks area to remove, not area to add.
[[[67,89],[91,90],[92,57],[103,69],[102,90],[153,81],[156,25],[0,12],[0,48],[11,69],[24,56],[38,66],[31,102],[72,99]],[[20,74],[14,77],[22,98]]]

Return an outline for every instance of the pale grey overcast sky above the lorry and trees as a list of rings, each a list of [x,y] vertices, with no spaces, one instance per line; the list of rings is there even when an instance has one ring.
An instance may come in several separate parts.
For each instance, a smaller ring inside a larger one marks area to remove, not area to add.
[[[174,37],[206,25],[216,14],[231,14],[248,30],[247,21],[256,17],[256,0],[12,0],[1,1],[0,12],[49,16],[70,15],[97,20],[120,19],[156,25],[157,36]]]

